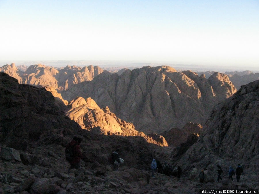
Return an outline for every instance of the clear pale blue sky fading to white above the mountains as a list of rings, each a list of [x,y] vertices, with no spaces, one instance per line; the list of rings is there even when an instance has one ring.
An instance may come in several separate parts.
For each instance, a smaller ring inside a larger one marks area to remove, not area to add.
[[[0,0],[0,59],[259,67],[259,1]]]

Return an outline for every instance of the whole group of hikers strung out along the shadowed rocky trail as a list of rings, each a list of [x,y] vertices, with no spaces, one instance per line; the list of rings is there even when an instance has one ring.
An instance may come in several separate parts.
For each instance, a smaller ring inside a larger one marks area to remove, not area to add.
[[[73,140],[68,143],[68,145],[66,146],[65,149],[65,156],[66,156],[66,160],[70,163],[70,168],[68,169],[68,172],[75,168],[75,169],[79,169],[80,167],[80,160],[82,158],[82,153],[80,150],[80,143],[82,141],[82,138],[80,137],[74,137]],[[114,151],[111,154],[111,163],[113,164],[113,167],[116,171],[119,170],[119,166],[120,164],[123,164],[124,160],[122,158],[119,157],[119,149],[117,149],[116,151]],[[160,168],[160,169],[158,169]],[[155,160],[155,158],[153,158],[153,161],[151,162],[151,176],[154,177],[156,170],[158,170],[160,173],[165,174],[167,176],[176,176],[178,178],[181,177],[182,174],[182,169],[180,168],[180,166],[175,167],[175,168],[171,168],[171,166],[169,164],[167,164],[167,162],[164,163],[163,166],[161,166],[161,164],[159,164],[159,166],[157,165],[157,161]],[[220,165],[217,165],[217,182],[222,180],[221,174],[222,174],[223,170],[220,167]],[[240,164],[238,164],[237,169],[234,170],[232,168],[232,166],[229,167],[228,170],[228,179],[233,181],[233,175],[236,175],[236,179],[237,182],[239,182],[240,180],[240,176],[243,172],[243,168],[241,167]],[[199,172],[198,175],[198,169],[193,166],[193,170],[191,171],[191,174],[189,176],[189,178],[191,180],[197,180],[197,178],[199,178],[199,182],[200,183],[207,183],[208,181],[208,170],[206,168],[202,169]]]

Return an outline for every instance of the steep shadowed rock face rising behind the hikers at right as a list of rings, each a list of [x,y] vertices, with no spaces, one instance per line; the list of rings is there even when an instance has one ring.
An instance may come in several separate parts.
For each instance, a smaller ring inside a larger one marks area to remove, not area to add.
[[[232,97],[216,105],[201,137],[180,163],[186,168],[196,163],[212,169],[217,164],[228,169],[240,163],[251,176],[258,174],[258,96],[259,80],[242,86]]]

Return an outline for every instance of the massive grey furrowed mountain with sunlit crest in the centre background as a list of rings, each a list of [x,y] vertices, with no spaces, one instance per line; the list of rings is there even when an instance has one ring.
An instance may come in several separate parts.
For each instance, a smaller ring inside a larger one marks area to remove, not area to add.
[[[76,96],[91,97],[138,130],[161,133],[187,122],[203,124],[212,107],[235,91],[228,77],[220,73],[207,80],[191,71],[147,66],[125,70],[120,76],[104,71],[61,95],[68,101]]]

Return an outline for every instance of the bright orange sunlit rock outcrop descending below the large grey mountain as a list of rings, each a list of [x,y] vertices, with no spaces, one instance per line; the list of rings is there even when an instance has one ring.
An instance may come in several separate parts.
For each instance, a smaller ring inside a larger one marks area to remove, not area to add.
[[[65,115],[76,121],[81,128],[98,134],[141,136],[149,143],[168,146],[164,137],[153,138],[135,130],[132,123],[117,118],[114,113],[110,112],[108,107],[101,109],[91,98],[77,97],[73,99],[68,104]]]

